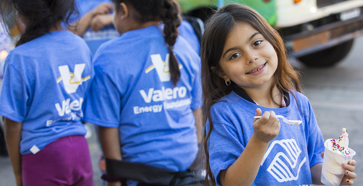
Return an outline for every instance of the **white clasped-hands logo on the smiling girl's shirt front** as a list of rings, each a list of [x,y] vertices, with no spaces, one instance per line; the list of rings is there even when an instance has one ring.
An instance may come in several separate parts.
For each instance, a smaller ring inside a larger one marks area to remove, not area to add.
[[[278,152],[273,161],[271,162],[270,166],[268,167],[267,171],[274,178],[276,178],[278,182],[297,180],[299,178],[300,168],[305,163],[306,157],[304,157],[304,159],[300,162],[299,168],[297,170],[297,175],[294,176],[292,172],[294,172],[293,169],[296,167],[298,157],[301,153],[301,150],[299,149],[299,146],[297,145],[295,139],[273,141],[269,149],[266,151],[264,158],[262,159],[261,166],[264,164],[266,158],[276,144],[281,145],[281,147],[286,150],[287,155],[283,152]],[[292,162],[290,161],[290,159],[292,160]],[[286,165],[285,162],[288,162],[289,164]]]

